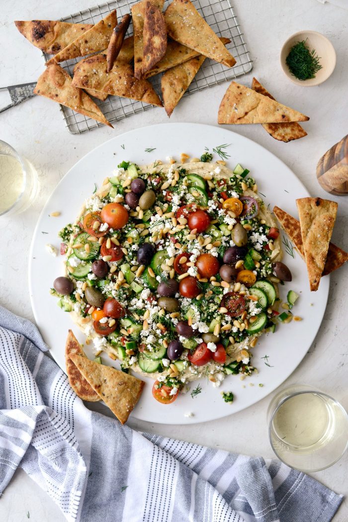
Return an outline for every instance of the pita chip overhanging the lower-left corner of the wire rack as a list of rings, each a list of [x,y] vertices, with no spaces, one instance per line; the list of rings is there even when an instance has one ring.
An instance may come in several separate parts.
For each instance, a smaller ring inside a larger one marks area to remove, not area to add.
[[[93,118],[93,120],[97,120],[113,128],[111,123],[106,120],[98,105],[90,99],[86,92],[72,85],[70,76],[58,64],[52,64],[46,67],[46,70],[38,79],[34,93],[50,98],[57,103],[61,103],[73,109],[75,112],[89,116]]]

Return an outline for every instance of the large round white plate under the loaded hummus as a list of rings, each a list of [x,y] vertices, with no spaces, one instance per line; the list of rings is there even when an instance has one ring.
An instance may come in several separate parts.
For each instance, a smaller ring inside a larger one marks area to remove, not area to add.
[[[51,348],[51,354],[64,371],[64,346],[68,329],[74,330],[80,342],[84,343],[86,338],[73,324],[69,314],[64,313],[57,306],[57,300],[50,295],[53,280],[63,273],[63,258],[47,253],[45,244],[53,244],[59,252],[58,231],[75,220],[81,204],[93,192],[94,183],[100,186],[123,159],[142,165],[157,159],[165,161],[167,156],[179,160],[182,152],[191,157],[199,157],[205,147],[212,151],[222,144],[228,145],[224,149],[230,155],[227,165],[234,168],[237,163],[241,163],[250,170],[266,205],[270,204],[271,209],[278,205],[297,216],[295,199],[309,194],[284,163],[244,136],[225,128],[200,124],[153,125],[117,136],[78,161],[55,188],[34,232],[29,263],[29,287],[35,320]],[[155,149],[146,152],[145,149],[150,147]],[[218,159],[214,155],[214,160]],[[61,215],[50,218],[49,214],[53,211],[60,211]],[[190,392],[181,394],[172,405],[165,406],[152,398],[153,381],[144,377],[146,386],[132,413],[137,419],[164,424],[218,419],[255,404],[289,377],[317,334],[328,298],[329,277],[322,278],[317,292],[310,292],[306,266],[297,252],[294,250],[292,258],[284,251],[284,262],[291,269],[293,280],[284,287],[280,286],[281,296],[286,300],[286,292],[290,289],[299,293],[293,312],[302,317],[303,321],[280,324],[274,334],[264,335],[260,339],[253,349],[252,360],[258,374],[247,377],[245,381],[241,381],[238,376],[227,376],[220,388],[214,388],[203,378],[199,382],[202,389],[199,395],[191,397]],[[88,357],[93,358],[91,347],[85,345],[85,350]],[[106,355],[102,359],[105,364],[113,363]],[[197,383],[191,383],[191,390]],[[224,402],[222,391],[234,393],[233,404]],[[194,416],[185,417],[187,413],[193,413]]]

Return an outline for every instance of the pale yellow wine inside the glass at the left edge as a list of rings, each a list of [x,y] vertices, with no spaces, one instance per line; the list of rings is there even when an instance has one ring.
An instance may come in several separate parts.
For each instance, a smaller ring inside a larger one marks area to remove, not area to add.
[[[23,190],[24,175],[20,162],[0,153],[0,212],[10,208]]]

